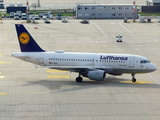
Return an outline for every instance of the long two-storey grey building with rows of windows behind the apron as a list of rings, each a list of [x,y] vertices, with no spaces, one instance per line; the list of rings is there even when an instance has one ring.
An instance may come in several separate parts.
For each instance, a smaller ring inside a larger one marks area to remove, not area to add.
[[[77,19],[133,18],[133,5],[78,4],[75,6],[75,17]]]

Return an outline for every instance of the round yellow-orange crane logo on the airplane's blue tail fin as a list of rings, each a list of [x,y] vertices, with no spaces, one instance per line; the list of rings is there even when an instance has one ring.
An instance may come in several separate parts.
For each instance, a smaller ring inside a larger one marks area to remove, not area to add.
[[[26,32],[23,32],[19,35],[19,41],[22,43],[22,44],[27,44],[29,41],[30,41],[30,36],[28,33]]]

